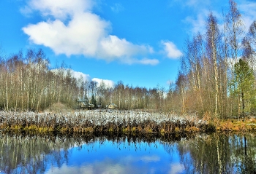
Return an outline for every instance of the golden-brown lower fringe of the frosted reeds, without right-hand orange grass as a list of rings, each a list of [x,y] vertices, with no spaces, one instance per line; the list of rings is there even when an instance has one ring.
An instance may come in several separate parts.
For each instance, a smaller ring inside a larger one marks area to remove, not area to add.
[[[206,133],[215,132],[215,127],[212,124],[205,125],[204,127],[186,126],[186,127],[171,127],[169,125],[164,126],[126,126],[121,127],[116,124],[94,126],[94,127],[40,127],[38,125],[30,124],[29,126],[23,125],[1,125],[0,129],[7,133],[33,133],[33,134],[74,134],[74,133],[85,133],[85,134],[122,134],[122,135],[167,135],[172,133]]]

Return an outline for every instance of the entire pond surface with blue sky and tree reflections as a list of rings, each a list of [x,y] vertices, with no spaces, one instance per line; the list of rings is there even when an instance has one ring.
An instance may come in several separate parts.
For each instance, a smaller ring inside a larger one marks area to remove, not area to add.
[[[0,134],[0,173],[256,173],[256,134]]]

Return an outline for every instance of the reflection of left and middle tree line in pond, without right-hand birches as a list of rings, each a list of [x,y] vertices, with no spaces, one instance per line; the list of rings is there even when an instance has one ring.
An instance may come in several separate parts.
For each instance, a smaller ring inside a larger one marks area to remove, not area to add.
[[[150,135],[75,135],[69,137],[0,134],[0,138],[0,171],[2,173],[44,173],[49,165],[61,167],[64,163],[68,163],[68,149],[75,146],[78,150],[82,149],[84,143],[88,151],[97,151],[106,141],[112,142],[115,148],[141,151],[156,148],[156,142],[159,140],[159,137]],[[161,137],[161,140],[165,142],[180,139],[180,135]]]

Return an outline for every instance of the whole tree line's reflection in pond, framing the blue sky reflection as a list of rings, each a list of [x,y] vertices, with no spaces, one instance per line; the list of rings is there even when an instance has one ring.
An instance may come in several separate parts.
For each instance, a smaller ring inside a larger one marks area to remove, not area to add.
[[[47,167],[68,163],[72,147],[97,151],[108,141],[113,148],[144,151],[159,143],[173,155],[178,151],[187,173],[254,173],[255,135],[27,136],[0,134],[0,170],[3,173],[44,173]]]

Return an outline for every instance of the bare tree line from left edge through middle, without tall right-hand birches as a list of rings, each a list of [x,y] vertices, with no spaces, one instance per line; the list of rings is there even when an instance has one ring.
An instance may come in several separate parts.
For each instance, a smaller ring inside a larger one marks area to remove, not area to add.
[[[132,87],[118,82],[108,87],[103,81],[76,79],[62,63],[51,69],[42,50],[18,52],[9,58],[0,56],[0,108],[13,111],[43,111],[54,103],[77,107],[77,100],[94,105],[116,103],[118,108],[162,108],[164,89]]]

